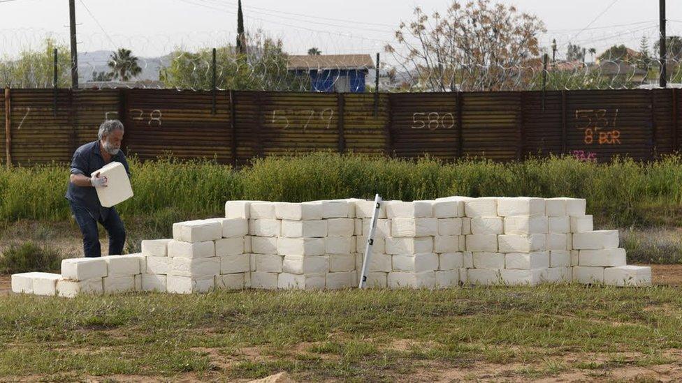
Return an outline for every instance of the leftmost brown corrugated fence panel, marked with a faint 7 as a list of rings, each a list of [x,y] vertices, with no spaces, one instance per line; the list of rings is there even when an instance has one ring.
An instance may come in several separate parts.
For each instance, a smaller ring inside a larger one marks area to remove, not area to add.
[[[71,158],[75,142],[71,124],[71,92],[51,89],[12,89],[12,161],[19,165]],[[4,123],[4,121],[3,121]]]

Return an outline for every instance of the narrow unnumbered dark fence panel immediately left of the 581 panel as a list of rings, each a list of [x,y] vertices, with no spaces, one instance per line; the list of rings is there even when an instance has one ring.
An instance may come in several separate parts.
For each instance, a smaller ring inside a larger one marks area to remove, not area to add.
[[[523,94],[523,156],[561,155],[561,92]]]

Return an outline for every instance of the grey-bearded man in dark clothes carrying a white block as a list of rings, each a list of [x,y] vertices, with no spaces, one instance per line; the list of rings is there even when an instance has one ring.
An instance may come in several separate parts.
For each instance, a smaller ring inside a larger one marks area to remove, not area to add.
[[[126,241],[123,222],[116,209],[103,207],[99,203],[95,190],[95,188],[106,188],[108,179],[100,177],[99,173],[90,177],[92,172],[112,161],[122,163],[130,175],[126,156],[121,151],[123,133],[121,121],[104,121],[99,126],[97,135],[99,140],[85,144],[73,153],[66,199],[83,234],[85,257],[101,257],[102,255],[97,223],[100,223],[109,234],[109,255],[123,253],[123,245]]]

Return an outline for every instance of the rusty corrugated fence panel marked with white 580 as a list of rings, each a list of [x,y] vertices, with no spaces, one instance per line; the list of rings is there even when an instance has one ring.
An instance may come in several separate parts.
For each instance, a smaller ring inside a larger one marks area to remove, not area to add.
[[[391,94],[391,137],[398,157],[458,156],[457,93]]]

